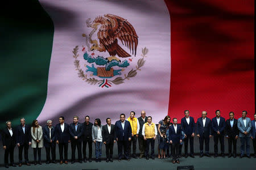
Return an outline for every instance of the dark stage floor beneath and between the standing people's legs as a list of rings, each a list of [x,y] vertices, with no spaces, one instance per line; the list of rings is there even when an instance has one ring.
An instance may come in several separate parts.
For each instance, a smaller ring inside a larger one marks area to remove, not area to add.
[[[213,158],[213,155],[211,158],[203,157],[199,158],[199,140],[196,137],[194,141],[194,148],[195,148],[195,158],[181,158],[180,164],[172,164],[171,159],[158,159],[157,158],[157,140],[155,142],[155,160],[146,160],[146,159],[131,159],[130,162],[127,160],[122,160],[121,162],[117,161],[117,144],[114,145],[114,162],[113,163],[106,163],[105,162],[105,146],[102,145],[102,158],[104,159],[101,163],[96,163],[93,159],[93,162],[89,163],[75,163],[75,164],[46,164],[46,151],[45,148],[42,148],[42,165],[31,165],[28,167],[27,165],[22,165],[22,167],[10,167],[9,169],[47,169],[47,168],[56,168],[56,169],[73,169],[76,168],[79,169],[177,169],[177,166],[185,166],[185,165],[194,165],[195,169],[255,169],[256,168],[256,159],[255,158],[228,158],[227,156],[225,158],[218,157]],[[219,144],[220,148],[220,144]],[[95,152],[94,152],[94,145],[93,145],[93,158],[95,158]],[[237,151],[238,154],[240,154],[240,139],[238,139],[237,144]],[[29,160],[32,163],[34,161],[33,159],[33,151],[32,148],[29,149]],[[138,143],[137,143],[137,153],[138,150]],[[228,152],[228,141],[225,139],[225,152]],[[253,154],[253,144],[251,143],[250,152]],[[4,160],[4,150],[1,147],[0,149],[0,169],[6,169],[3,166],[3,160]],[[59,149],[56,147],[56,155],[57,159],[59,159]],[[182,150],[182,154],[184,153],[184,146]],[[210,154],[213,154],[213,138],[210,139]],[[77,155],[76,155],[77,156]],[[77,158],[77,157],[76,157]],[[71,159],[71,147],[69,145],[69,154],[68,159]],[[18,148],[15,148],[15,154],[14,154],[14,161],[15,163],[18,163]]]

